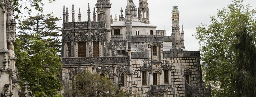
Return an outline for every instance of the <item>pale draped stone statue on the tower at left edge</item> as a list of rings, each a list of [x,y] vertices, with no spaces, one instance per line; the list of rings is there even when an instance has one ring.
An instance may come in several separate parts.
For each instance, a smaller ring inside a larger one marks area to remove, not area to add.
[[[12,42],[9,45],[9,58],[10,58],[9,65],[12,68],[12,70],[15,71],[15,69],[16,69],[15,61],[17,60],[17,57],[15,57],[14,46],[13,46]]]

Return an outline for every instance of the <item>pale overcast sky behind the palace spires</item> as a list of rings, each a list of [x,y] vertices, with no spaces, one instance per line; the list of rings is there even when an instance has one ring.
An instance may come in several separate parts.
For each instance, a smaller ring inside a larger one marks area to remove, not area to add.
[[[139,7],[139,0],[133,0],[136,8]],[[87,21],[87,5],[90,3],[91,19],[93,7],[97,0],[56,0],[49,3],[43,0],[44,13],[53,12],[57,17],[62,18],[63,5],[68,7],[69,21],[71,21],[72,4],[75,8],[75,21],[78,21],[78,8],[81,8],[81,21]],[[110,0],[111,14],[120,15],[121,7],[126,8],[127,0]],[[192,36],[195,28],[202,23],[209,25],[210,15],[216,15],[218,9],[227,7],[231,4],[231,0],[148,0],[150,25],[157,26],[156,30],[166,30],[167,35],[171,35],[171,11],[172,6],[178,6],[180,11],[180,27],[184,27],[185,49],[189,51],[197,51],[199,48],[198,41]],[[245,0],[244,4],[250,4],[256,7],[256,0]],[[37,14],[33,12],[32,15]],[[125,12],[123,12],[125,15]],[[58,26],[62,26],[62,20],[57,22]]]

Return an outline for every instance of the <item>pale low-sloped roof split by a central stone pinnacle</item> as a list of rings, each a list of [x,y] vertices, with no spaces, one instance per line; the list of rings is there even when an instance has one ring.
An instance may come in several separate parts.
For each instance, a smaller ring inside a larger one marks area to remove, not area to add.
[[[149,25],[149,24],[145,24],[145,23],[137,22],[137,21],[132,21],[131,23],[132,23],[131,25],[135,26],[135,27],[156,27],[154,25]],[[111,26],[126,26],[126,25],[125,25],[124,21],[117,21],[117,22],[111,24]]]

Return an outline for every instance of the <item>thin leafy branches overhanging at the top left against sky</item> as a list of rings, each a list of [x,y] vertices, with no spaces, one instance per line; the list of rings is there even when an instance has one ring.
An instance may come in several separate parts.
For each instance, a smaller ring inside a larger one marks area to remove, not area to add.
[[[48,0],[50,3],[56,0]],[[13,0],[13,11],[16,19],[20,19],[20,15],[24,13],[31,14],[33,8],[38,12],[43,12],[44,3],[42,0]],[[23,9],[23,11],[21,11]],[[24,12],[24,13],[23,13]]]

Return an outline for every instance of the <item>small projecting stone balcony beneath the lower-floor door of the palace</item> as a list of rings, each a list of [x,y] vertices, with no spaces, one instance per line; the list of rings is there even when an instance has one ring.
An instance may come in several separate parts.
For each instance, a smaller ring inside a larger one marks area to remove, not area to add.
[[[150,85],[150,93],[152,95],[164,95],[166,90],[166,85]]]

